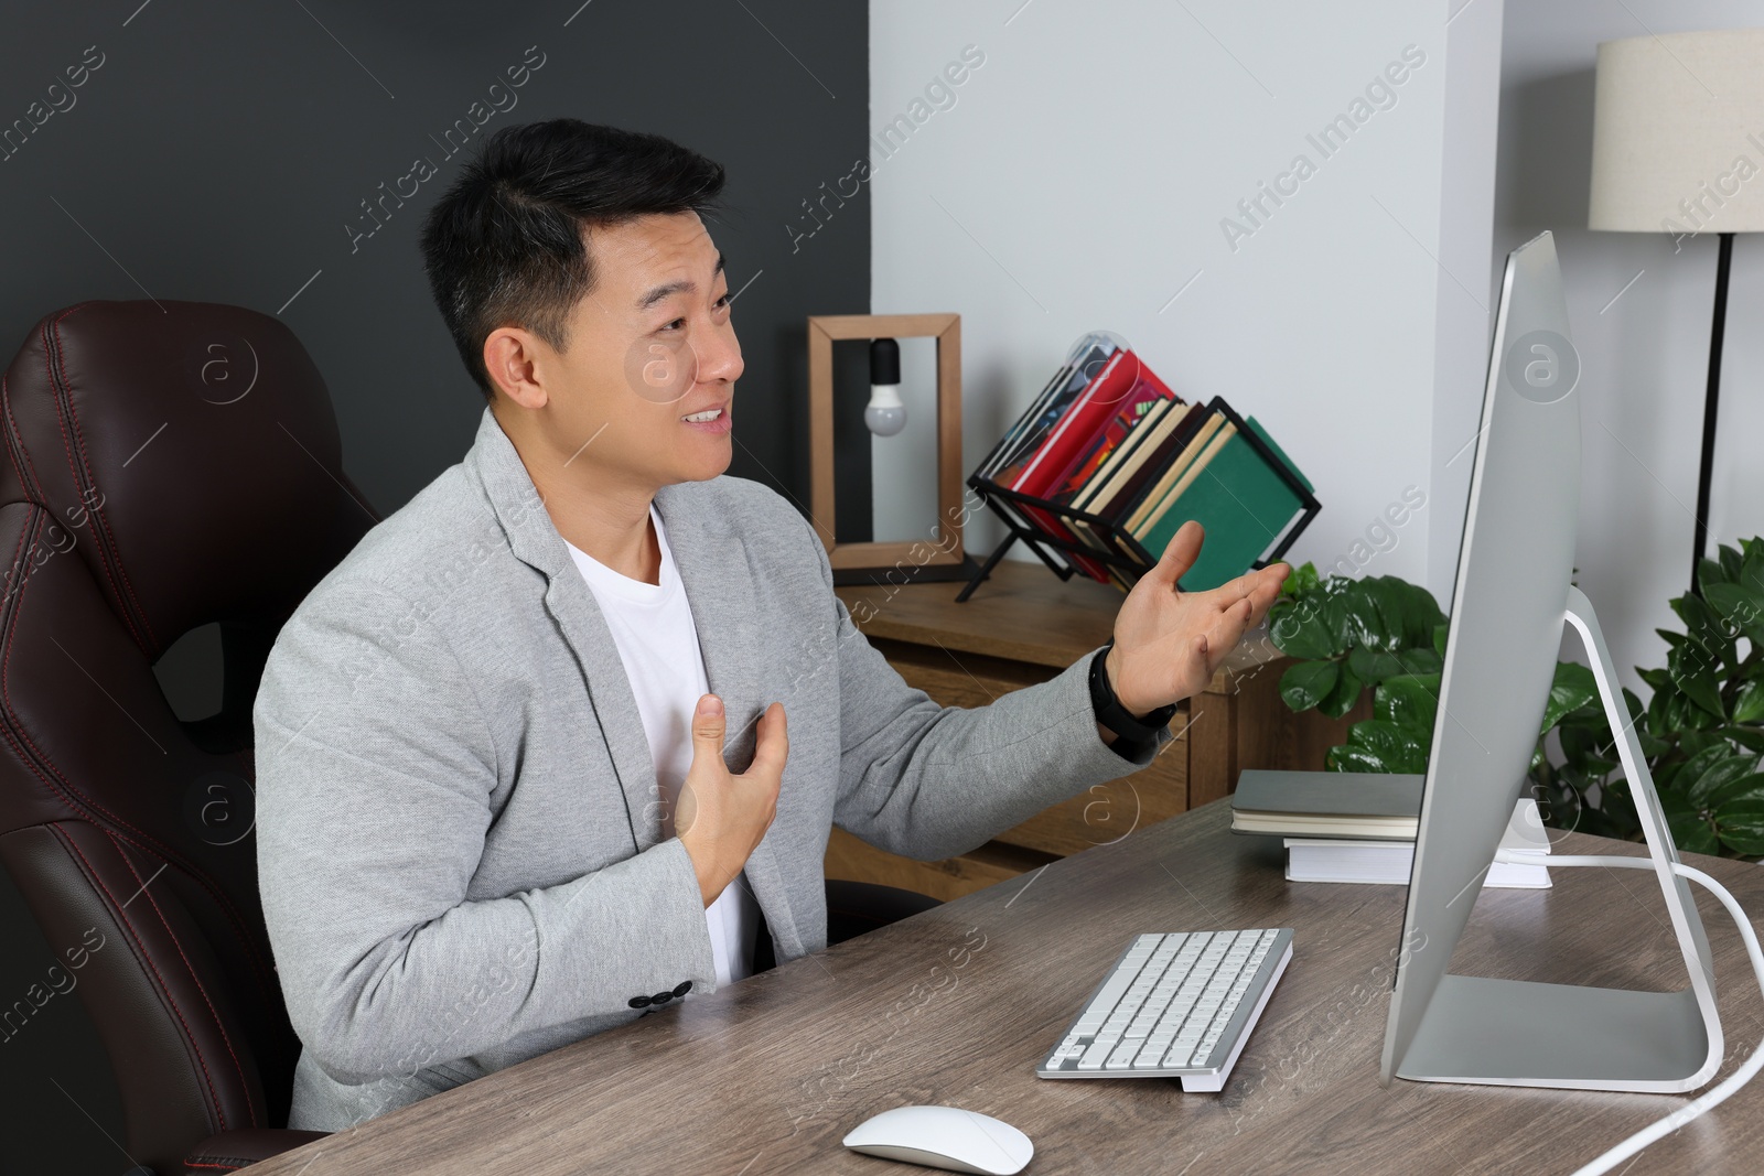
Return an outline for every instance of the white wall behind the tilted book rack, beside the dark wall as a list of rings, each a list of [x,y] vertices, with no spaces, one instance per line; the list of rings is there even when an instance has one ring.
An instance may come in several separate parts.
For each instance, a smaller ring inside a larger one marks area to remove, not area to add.
[[[1469,458],[1445,460],[1475,434],[1487,349],[1501,11],[1446,21],[1413,0],[871,4],[871,127],[923,118],[893,153],[871,141],[871,309],[963,316],[963,471],[1080,333],[1113,330],[1184,398],[1256,414],[1316,483],[1295,559],[1358,555],[1445,599]],[[965,46],[984,62],[933,88],[947,109],[916,108]],[[1307,136],[1406,46],[1425,60],[1394,104],[1374,95],[1325,157]],[[1314,175],[1244,217],[1297,155]],[[1228,242],[1226,217],[1251,234]],[[923,532],[930,448],[875,453],[878,532]],[[1411,485],[1427,506],[1374,552]],[[997,538],[983,518],[968,550]]]

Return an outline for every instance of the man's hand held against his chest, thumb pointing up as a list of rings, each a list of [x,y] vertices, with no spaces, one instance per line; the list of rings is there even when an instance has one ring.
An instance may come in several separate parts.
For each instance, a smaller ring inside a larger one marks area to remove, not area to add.
[[[723,762],[725,730],[723,700],[716,695],[699,698],[691,716],[691,767],[674,809],[674,832],[699,875],[706,906],[734,882],[771,829],[790,755],[781,702],[760,716],[753,763],[739,776]]]

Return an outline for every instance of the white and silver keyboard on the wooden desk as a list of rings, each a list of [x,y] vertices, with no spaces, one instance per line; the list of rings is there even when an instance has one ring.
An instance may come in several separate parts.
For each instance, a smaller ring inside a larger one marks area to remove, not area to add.
[[[1035,1074],[1221,1090],[1291,957],[1291,927],[1141,934]]]

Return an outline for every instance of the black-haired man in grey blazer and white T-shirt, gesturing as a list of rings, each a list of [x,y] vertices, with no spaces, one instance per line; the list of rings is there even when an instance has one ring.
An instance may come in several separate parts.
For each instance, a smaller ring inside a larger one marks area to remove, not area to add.
[[[554,120],[490,136],[429,215],[476,441],[302,603],[254,711],[293,1127],[714,991],[762,934],[822,949],[831,825],[942,859],[1141,767],[1154,712],[1279,591],[1277,564],[1177,592],[1201,541],[1178,532],[1099,651],[1147,726],[1097,721],[1092,658],[974,711],[910,689],[810,524],[721,476],[741,349],[699,217],[721,183]]]

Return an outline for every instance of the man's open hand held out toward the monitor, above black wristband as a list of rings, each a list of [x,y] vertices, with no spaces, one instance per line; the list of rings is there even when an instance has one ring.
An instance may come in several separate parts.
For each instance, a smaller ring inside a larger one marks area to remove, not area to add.
[[[1182,524],[1115,614],[1115,647],[1104,666],[1115,696],[1134,716],[1205,689],[1281,594],[1286,564],[1247,571],[1205,592],[1178,591],[1177,580],[1200,559],[1203,538],[1198,522]]]

